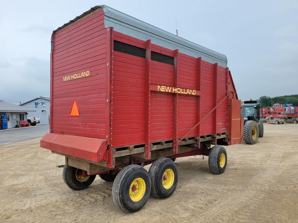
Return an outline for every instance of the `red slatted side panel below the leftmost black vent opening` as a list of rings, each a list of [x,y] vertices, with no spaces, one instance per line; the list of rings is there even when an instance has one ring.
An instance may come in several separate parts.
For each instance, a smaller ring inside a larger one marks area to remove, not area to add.
[[[114,51],[113,147],[145,142],[146,59]]]

